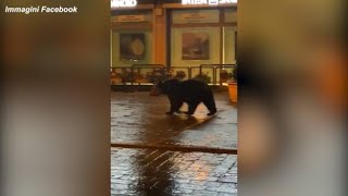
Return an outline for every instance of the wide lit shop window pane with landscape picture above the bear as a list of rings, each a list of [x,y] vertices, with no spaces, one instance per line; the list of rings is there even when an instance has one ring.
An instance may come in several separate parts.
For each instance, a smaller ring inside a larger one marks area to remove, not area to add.
[[[178,10],[172,12],[171,65],[194,68],[190,76],[200,74],[200,64],[221,62],[220,10]],[[186,73],[188,74],[188,73]],[[213,70],[203,69],[212,82]],[[207,77],[206,77],[207,76]]]

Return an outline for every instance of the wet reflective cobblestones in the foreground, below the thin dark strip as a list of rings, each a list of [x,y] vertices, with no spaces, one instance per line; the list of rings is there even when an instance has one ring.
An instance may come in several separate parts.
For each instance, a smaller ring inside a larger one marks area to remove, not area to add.
[[[237,195],[236,156],[112,148],[112,195]]]

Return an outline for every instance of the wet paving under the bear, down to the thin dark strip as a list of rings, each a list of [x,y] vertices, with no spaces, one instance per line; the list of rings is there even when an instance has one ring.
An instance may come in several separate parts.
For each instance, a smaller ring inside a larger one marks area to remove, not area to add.
[[[214,96],[219,110],[214,117],[207,117],[207,109],[200,105],[189,118],[165,115],[169,109],[165,96],[112,93],[111,143],[236,149],[237,109],[231,105],[226,93]]]

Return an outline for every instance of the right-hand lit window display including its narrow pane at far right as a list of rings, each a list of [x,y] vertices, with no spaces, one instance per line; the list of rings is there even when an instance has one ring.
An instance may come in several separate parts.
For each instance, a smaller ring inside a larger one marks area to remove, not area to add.
[[[236,63],[236,9],[173,10],[171,16],[171,66]],[[192,69],[191,76],[213,77],[212,69],[202,72]],[[219,72],[231,74],[232,69]]]

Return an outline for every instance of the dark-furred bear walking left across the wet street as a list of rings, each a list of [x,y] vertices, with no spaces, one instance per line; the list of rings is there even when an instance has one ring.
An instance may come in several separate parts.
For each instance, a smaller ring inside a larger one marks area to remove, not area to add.
[[[179,81],[177,78],[170,78],[159,82],[150,95],[166,94],[171,110],[166,114],[179,113],[179,109],[184,102],[188,105],[188,115],[195,113],[196,108],[200,102],[203,102],[210,111],[208,115],[216,113],[214,96],[211,88],[202,81],[187,79]]]

